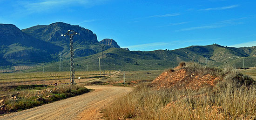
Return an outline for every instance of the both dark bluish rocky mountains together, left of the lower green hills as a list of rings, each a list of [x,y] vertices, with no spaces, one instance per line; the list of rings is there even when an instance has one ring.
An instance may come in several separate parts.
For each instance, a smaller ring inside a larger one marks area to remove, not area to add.
[[[96,34],[91,30],[63,22],[23,30],[12,24],[0,24],[0,68],[58,61],[60,52],[64,60],[68,59],[69,37],[61,34],[67,33],[69,29],[80,33],[74,36],[75,57],[92,55],[114,47],[106,45],[102,49]]]

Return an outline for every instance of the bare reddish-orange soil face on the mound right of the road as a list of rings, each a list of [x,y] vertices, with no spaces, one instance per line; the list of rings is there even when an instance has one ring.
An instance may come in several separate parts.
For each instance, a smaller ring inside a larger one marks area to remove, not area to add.
[[[214,87],[220,80],[219,77],[214,77],[211,74],[197,75],[190,73],[178,66],[175,67],[175,71],[168,70],[163,72],[152,83],[158,89],[170,87],[198,89],[205,86]]]

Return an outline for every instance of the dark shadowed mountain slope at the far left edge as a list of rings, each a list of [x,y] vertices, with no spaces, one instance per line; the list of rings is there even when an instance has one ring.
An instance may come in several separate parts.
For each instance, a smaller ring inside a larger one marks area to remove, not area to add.
[[[5,65],[18,61],[51,61],[51,56],[63,49],[24,33],[12,24],[0,24],[0,34],[0,60],[7,61]]]

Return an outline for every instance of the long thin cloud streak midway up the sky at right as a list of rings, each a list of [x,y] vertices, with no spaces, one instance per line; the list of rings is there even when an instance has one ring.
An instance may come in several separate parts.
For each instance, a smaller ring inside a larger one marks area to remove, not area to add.
[[[223,20],[223,21],[219,21],[216,23],[203,25],[203,26],[199,26],[199,27],[187,27],[187,28],[183,28],[180,30],[176,30],[176,32],[189,31],[189,30],[200,30],[200,29],[213,29],[213,28],[220,28],[220,27],[226,27],[226,26],[231,26],[231,25],[238,25],[238,24],[243,24],[243,22],[238,22],[238,20],[243,20],[243,19],[246,19],[246,17],[238,18],[238,19],[231,19],[231,20]]]

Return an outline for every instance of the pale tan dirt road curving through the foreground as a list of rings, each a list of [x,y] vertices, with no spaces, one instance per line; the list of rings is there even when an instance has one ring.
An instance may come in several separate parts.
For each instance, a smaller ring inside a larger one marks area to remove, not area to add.
[[[130,87],[86,86],[93,92],[40,107],[0,116],[0,120],[99,120],[100,109],[114,102]]]

